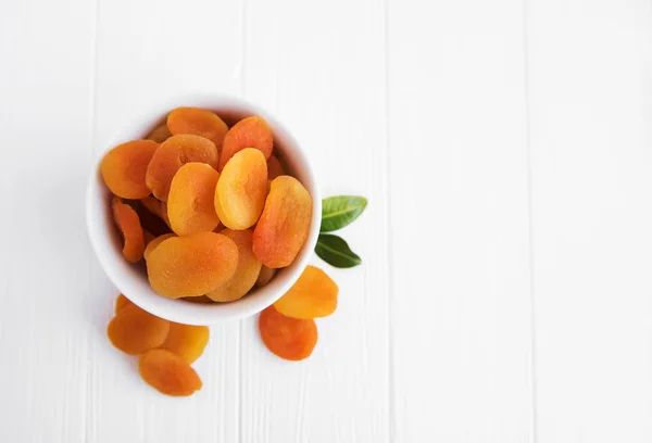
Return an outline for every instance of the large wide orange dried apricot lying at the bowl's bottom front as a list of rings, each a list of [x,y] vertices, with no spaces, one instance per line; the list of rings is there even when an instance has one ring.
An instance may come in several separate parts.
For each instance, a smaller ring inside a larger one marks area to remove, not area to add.
[[[171,237],[147,258],[152,289],[170,299],[203,295],[228,280],[238,266],[238,246],[215,232]]]

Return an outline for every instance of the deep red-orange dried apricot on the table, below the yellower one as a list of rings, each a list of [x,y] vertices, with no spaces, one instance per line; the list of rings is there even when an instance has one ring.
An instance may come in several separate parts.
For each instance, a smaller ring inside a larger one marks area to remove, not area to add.
[[[315,320],[286,317],[274,306],[261,313],[259,330],[265,346],[280,358],[289,360],[308,358],[317,344]]]

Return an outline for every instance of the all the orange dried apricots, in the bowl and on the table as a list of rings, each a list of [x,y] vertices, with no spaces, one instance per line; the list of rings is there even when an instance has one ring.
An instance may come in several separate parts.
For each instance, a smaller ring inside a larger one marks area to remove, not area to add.
[[[305,243],[312,199],[286,173],[274,137],[259,116],[230,128],[215,113],[179,107],[147,139],[109,151],[100,165],[130,263],[145,258],[152,289],[170,299],[226,303],[269,282]],[[317,342],[316,317],[337,307],[337,284],[308,266],[259,318],[266,347],[300,360]],[[168,395],[202,385],[190,366],[209,329],[172,322],[118,295],[108,336],[140,355],[142,379]]]

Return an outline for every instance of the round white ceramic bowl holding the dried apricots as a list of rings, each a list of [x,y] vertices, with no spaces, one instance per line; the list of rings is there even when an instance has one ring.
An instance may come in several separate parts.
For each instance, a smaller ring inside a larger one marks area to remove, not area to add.
[[[193,106],[214,111],[230,126],[250,115],[260,115],[274,132],[274,150],[284,159],[292,175],[308,189],[313,199],[310,233],[294,262],[276,273],[264,288],[254,289],[244,298],[230,303],[192,303],[166,299],[150,287],[142,263],[129,264],[122,254],[123,239],[113,225],[111,193],[100,174],[100,162],[104,153],[128,140],[143,138],[164,121],[170,111],[178,106]],[[131,302],[143,309],[168,320],[188,325],[214,325],[222,320],[239,319],[261,312],[278,300],[297,281],[313,253],[322,218],[322,199],[316,179],[305,153],[290,132],[272,115],[243,100],[224,96],[198,94],[179,97],[158,104],[140,118],[134,118],[121,128],[105,144],[99,147],[100,155],[93,166],[86,193],[86,223],[90,242],[102,268],[116,288]]]

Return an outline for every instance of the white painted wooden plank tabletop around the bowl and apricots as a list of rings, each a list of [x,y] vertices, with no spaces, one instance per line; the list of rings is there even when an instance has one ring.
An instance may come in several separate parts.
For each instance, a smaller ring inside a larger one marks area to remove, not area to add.
[[[0,0],[0,442],[650,442],[651,38],[644,0]],[[186,91],[369,206],[313,356],[213,327],[178,400],[105,339],[84,190]]]

